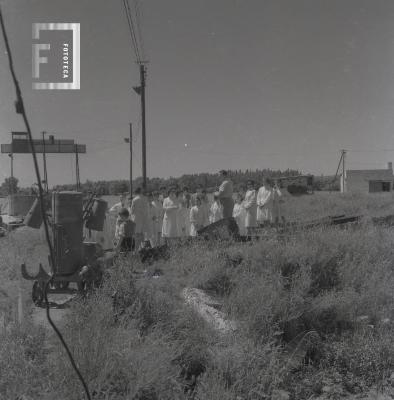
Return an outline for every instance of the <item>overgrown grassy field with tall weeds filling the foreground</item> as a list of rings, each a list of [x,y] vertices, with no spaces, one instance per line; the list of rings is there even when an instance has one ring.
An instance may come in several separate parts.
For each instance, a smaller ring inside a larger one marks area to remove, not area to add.
[[[289,220],[366,218],[286,239],[195,242],[149,266],[118,263],[63,328],[93,398],[338,399],[392,390],[394,231],[369,218],[394,214],[394,197],[318,193],[286,197],[284,210]],[[5,292],[14,292],[21,261],[46,257],[41,246],[29,230],[0,239]],[[236,331],[220,334],[202,320],[184,304],[185,287],[220,301]],[[83,398],[60,345],[28,318],[0,335],[2,398]]]

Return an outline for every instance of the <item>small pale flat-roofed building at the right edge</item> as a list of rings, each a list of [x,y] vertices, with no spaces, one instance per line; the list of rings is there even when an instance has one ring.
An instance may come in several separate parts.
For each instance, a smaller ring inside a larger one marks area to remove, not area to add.
[[[387,169],[347,170],[344,184],[341,179],[341,192],[391,192],[393,182],[393,164],[391,162],[388,163]]]

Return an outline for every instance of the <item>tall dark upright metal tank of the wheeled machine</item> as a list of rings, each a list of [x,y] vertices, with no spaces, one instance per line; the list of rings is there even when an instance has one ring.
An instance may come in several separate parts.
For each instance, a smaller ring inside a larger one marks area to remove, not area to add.
[[[54,192],[52,196],[57,274],[75,273],[83,263],[82,193]]]

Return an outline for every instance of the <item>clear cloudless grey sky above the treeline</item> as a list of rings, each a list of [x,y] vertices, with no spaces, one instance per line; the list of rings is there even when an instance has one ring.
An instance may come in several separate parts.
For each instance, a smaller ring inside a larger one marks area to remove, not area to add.
[[[392,0],[140,0],[148,176],[218,169],[335,173],[394,160]],[[81,179],[128,177],[128,123],[141,175],[139,83],[121,0],[2,0],[33,135],[87,144]],[[81,89],[32,90],[33,22],[80,22]],[[0,41],[0,142],[24,130]],[[138,128],[138,129],[137,129]],[[187,147],[185,147],[187,144]],[[41,160],[40,160],[41,161]],[[0,155],[0,180],[9,175]],[[34,181],[29,155],[15,175]],[[49,183],[73,157],[48,157]],[[3,177],[1,176],[3,175]]]

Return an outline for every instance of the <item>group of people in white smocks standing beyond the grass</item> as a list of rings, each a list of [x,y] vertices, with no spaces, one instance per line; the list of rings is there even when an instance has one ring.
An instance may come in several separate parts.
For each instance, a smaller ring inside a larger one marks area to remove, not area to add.
[[[223,218],[234,217],[241,235],[250,235],[252,228],[278,222],[281,218],[281,191],[266,179],[256,190],[255,182],[248,181],[246,193],[236,193],[233,184],[222,170],[223,182],[209,202],[206,191],[200,186],[195,193],[187,187],[171,187],[152,193],[135,190],[134,196],[109,209],[117,213],[115,228],[116,246],[121,251],[139,249],[148,242],[152,247],[172,239],[197,236],[198,231]]]

